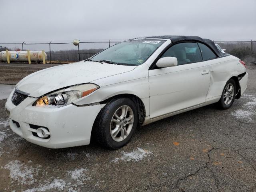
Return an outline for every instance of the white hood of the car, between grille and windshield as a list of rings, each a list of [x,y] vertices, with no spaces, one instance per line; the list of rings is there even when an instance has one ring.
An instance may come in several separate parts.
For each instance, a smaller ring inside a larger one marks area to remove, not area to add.
[[[81,61],[32,73],[18,82],[16,88],[29,96],[40,97],[57,89],[125,73],[134,68],[136,66]]]

